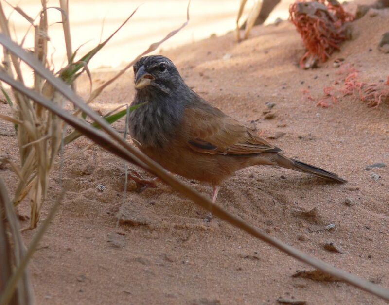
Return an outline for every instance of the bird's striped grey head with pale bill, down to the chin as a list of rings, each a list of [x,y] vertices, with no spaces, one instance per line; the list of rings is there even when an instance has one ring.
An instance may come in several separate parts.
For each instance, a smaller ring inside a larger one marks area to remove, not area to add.
[[[144,56],[134,64],[134,82],[137,91],[169,94],[184,84],[173,62],[161,55]]]

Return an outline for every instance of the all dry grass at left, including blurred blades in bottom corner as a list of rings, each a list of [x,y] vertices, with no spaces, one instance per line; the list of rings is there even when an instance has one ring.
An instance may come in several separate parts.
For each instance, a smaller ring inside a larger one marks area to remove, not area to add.
[[[61,8],[54,8],[60,10],[62,13],[65,44],[68,55],[68,66],[61,69],[58,74],[66,84],[72,85],[72,88],[74,88],[73,85],[75,79],[81,75],[83,71],[88,72],[87,65],[89,60],[106,45],[106,43],[113,37],[114,34],[116,34],[124,26],[124,24],[134,15],[137,9],[104,42],[100,43],[96,48],[89,51],[77,62],[73,62],[76,52],[72,53],[71,51],[68,3],[61,0],[60,5]],[[39,22],[36,25],[34,24],[36,18],[33,19],[29,17],[19,7],[13,8],[27,21],[29,21],[31,26],[35,27],[35,45],[32,58],[40,67],[48,68],[48,24],[47,6],[45,0],[42,0],[42,10],[39,13]],[[145,52],[143,52],[133,62],[127,65],[126,68],[122,69],[115,77],[93,91],[92,95],[88,99],[88,102],[92,102],[106,88],[106,86],[113,83],[128,68],[132,67],[133,63],[142,55],[156,50],[161,43],[185,27],[188,21],[189,4],[187,9],[187,20],[181,27],[169,33],[159,42],[153,43]],[[0,28],[2,32],[0,35],[3,35],[6,37],[6,39],[10,39],[11,34],[9,31],[8,20],[5,17],[1,2]],[[23,38],[21,45],[23,45],[25,37]],[[0,73],[3,73],[6,79],[11,80],[11,82],[8,82],[9,84],[12,83],[12,81],[17,81],[19,84],[24,86],[19,58],[15,56],[14,53],[10,53],[6,47],[3,49],[3,51],[4,60],[3,65],[0,65]],[[50,104],[62,108],[64,101],[63,95],[61,95],[55,89],[55,87],[51,85],[50,82],[47,82],[41,74],[36,73],[36,71],[34,72],[34,90],[31,91],[34,92],[36,96],[46,98],[47,101],[50,101]],[[49,73],[51,74],[51,72]],[[53,74],[51,75],[53,76]],[[34,253],[40,239],[47,230],[48,225],[53,219],[56,209],[59,207],[59,204],[63,198],[64,191],[56,200],[56,203],[54,203],[46,217],[46,220],[40,226],[27,251],[24,251],[25,247],[22,243],[20,229],[18,227],[18,220],[15,215],[13,205],[17,205],[27,195],[30,195],[30,227],[35,228],[39,221],[40,209],[46,196],[48,175],[52,171],[53,165],[55,164],[54,158],[58,154],[61,145],[71,143],[79,136],[82,136],[82,133],[79,131],[74,131],[67,137],[63,138],[62,130],[64,129],[65,122],[56,116],[55,112],[48,111],[47,108],[44,108],[41,104],[34,102],[34,99],[30,99],[28,96],[23,95],[21,93],[22,91],[15,89],[14,87],[12,87],[14,102],[12,102],[9,94],[3,89],[2,86],[1,90],[11,109],[13,110],[14,117],[0,115],[0,119],[7,120],[15,125],[18,135],[21,169],[19,169],[18,166],[11,160],[4,158],[0,159],[1,162],[8,162],[20,179],[12,204],[8,198],[4,183],[0,178],[0,305],[34,304],[32,288],[26,266],[31,259],[32,254]],[[117,108],[108,113],[104,117],[104,120],[110,124],[122,118],[126,114],[128,117],[128,112],[136,107],[138,106],[127,107],[124,111],[116,112],[119,109]],[[75,118],[78,116],[78,114],[79,111],[76,111],[71,116],[72,118]],[[86,115],[83,116],[83,119],[84,121],[82,121],[82,124],[88,126],[89,128],[94,130],[101,128],[97,123],[89,125],[86,124]],[[82,149],[80,152],[71,155],[70,157],[75,157],[90,147],[91,145]],[[8,234],[13,237],[12,241],[8,239]],[[14,269],[15,271],[13,271]]]

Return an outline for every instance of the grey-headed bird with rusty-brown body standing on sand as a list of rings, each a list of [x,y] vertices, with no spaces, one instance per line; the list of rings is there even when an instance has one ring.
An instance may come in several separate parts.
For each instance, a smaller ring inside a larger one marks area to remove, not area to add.
[[[335,173],[288,158],[252,129],[195,93],[167,57],[149,55],[134,65],[135,97],[129,114],[134,144],[168,171],[212,185],[215,203],[221,183],[237,170],[273,165],[346,183]]]

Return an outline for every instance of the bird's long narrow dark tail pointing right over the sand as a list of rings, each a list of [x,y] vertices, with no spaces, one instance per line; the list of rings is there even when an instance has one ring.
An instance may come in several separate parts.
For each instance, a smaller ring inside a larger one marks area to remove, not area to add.
[[[319,178],[327,179],[327,180],[334,181],[337,183],[346,183],[347,182],[346,180],[340,178],[338,175],[336,175],[330,171],[320,169],[316,166],[306,164],[304,162],[301,162],[301,161],[298,161],[295,159],[290,159],[290,158],[285,157],[284,155],[282,155],[280,153],[276,153],[272,157],[276,161],[276,163],[277,163],[276,165],[281,166],[283,168],[305,172],[305,173],[317,176]]]

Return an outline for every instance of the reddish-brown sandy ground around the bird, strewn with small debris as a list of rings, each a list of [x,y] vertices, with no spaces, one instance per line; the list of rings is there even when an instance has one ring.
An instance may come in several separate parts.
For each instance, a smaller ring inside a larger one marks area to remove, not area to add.
[[[164,52],[209,102],[265,137],[284,133],[268,140],[286,155],[349,181],[331,185],[286,169],[253,167],[223,185],[218,204],[270,235],[384,287],[389,287],[389,105],[369,108],[345,97],[321,108],[316,101],[324,87],[342,76],[341,68],[333,66],[336,58],[360,70],[363,81],[387,79],[389,55],[376,44],[389,29],[388,16],[386,10],[354,22],[354,40],[314,70],[298,68],[304,49],[286,21],[257,27],[240,44],[230,33]],[[94,73],[94,81],[111,73]],[[125,74],[93,107],[105,113],[130,102],[132,78],[132,72]],[[80,87],[86,91],[87,84]],[[307,88],[315,101],[304,98],[302,89]],[[265,119],[266,102],[275,103],[272,119]],[[10,114],[4,104],[0,112]],[[124,122],[115,127],[123,131]],[[0,154],[17,161],[12,126],[2,123],[1,131],[11,136],[0,136]],[[79,139],[66,155],[88,143]],[[386,167],[366,170],[379,162]],[[308,304],[385,304],[342,282],[292,277],[311,268],[221,220],[204,223],[207,212],[168,186],[138,193],[129,183],[124,194],[123,172],[123,162],[98,147],[65,162],[63,178],[70,191],[30,264],[37,304],[277,304],[279,297]],[[371,178],[373,172],[378,181]],[[0,175],[13,193],[16,175],[8,167]],[[52,174],[42,219],[58,196],[59,175]],[[211,193],[210,186],[187,183]],[[106,190],[98,191],[98,184]],[[27,205],[22,203],[20,212],[28,213]],[[117,215],[122,219],[118,227]],[[325,230],[329,224],[335,228]],[[35,232],[23,232],[27,243]],[[326,242],[334,242],[343,254],[325,250]]]

